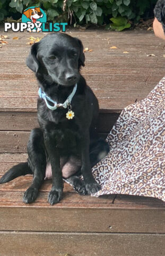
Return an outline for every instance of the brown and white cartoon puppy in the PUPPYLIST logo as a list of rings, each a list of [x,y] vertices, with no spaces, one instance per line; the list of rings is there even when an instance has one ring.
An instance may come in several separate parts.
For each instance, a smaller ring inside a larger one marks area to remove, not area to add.
[[[43,13],[41,12],[40,10],[40,7],[31,7],[29,8],[28,10],[25,10],[23,12],[23,14],[28,18],[30,19],[31,21],[28,21],[28,28],[27,30],[29,31],[29,33],[31,32],[36,32],[39,33],[39,31],[41,31],[41,25],[42,23],[40,21],[38,21],[38,19],[42,18],[43,17]],[[32,25],[32,23],[34,23],[34,25],[37,27],[37,30],[36,29],[32,29],[32,27],[34,27]],[[31,26],[30,26],[31,25]]]

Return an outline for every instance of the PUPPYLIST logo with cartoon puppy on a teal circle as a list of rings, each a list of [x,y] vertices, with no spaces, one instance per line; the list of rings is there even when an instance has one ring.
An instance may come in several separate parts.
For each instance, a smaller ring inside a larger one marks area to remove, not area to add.
[[[10,22],[5,22],[5,29],[4,31],[7,32],[9,29],[12,29],[13,32],[18,32],[21,31],[23,32],[25,29],[29,33],[39,33],[40,31],[42,32],[58,32],[58,31],[66,31],[66,22],[61,22],[61,23],[48,23],[48,28],[46,28],[46,13],[44,10],[42,10],[40,7],[37,6],[31,6],[28,7],[23,11],[22,14],[22,22],[17,22],[17,23],[10,23]]]

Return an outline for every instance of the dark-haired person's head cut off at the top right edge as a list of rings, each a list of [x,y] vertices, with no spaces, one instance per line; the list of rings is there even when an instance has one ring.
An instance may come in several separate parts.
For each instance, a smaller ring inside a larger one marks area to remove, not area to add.
[[[165,0],[159,0],[154,8],[154,15],[159,22],[162,23],[162,27],[165,33]]]

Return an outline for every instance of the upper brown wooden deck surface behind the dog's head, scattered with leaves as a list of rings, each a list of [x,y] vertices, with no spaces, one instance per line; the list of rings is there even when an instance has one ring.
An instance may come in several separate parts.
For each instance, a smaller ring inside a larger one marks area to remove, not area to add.
[[[0,33],[4,34],[3,28]],[[152,31],[72,30],[67,33],[79,37],[84,47],[93,50],[85,52],[86,66],[82,74],[97,95],[103,112],[120,112],[136,99],[143,99],[164,75],[164,42]],[[0,49],[0,111],[36,111],[38,85],[32,71],[25,66],[30,51],[26,44],[29,34],[9,32],[7,35],[8,45]],[[13,36],[19,40],[13,40]],[[110,49],[114,45],[118,49]]]

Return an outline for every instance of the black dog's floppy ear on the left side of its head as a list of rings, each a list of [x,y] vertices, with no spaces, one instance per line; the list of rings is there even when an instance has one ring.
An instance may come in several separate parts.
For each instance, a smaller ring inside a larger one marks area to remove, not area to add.
[[[39,61],[37,59],[37,48],[39,43],[35,43],[31,46],[31,51],[26,59],[26,64],[33,72],[37,73],[39,68]]]

